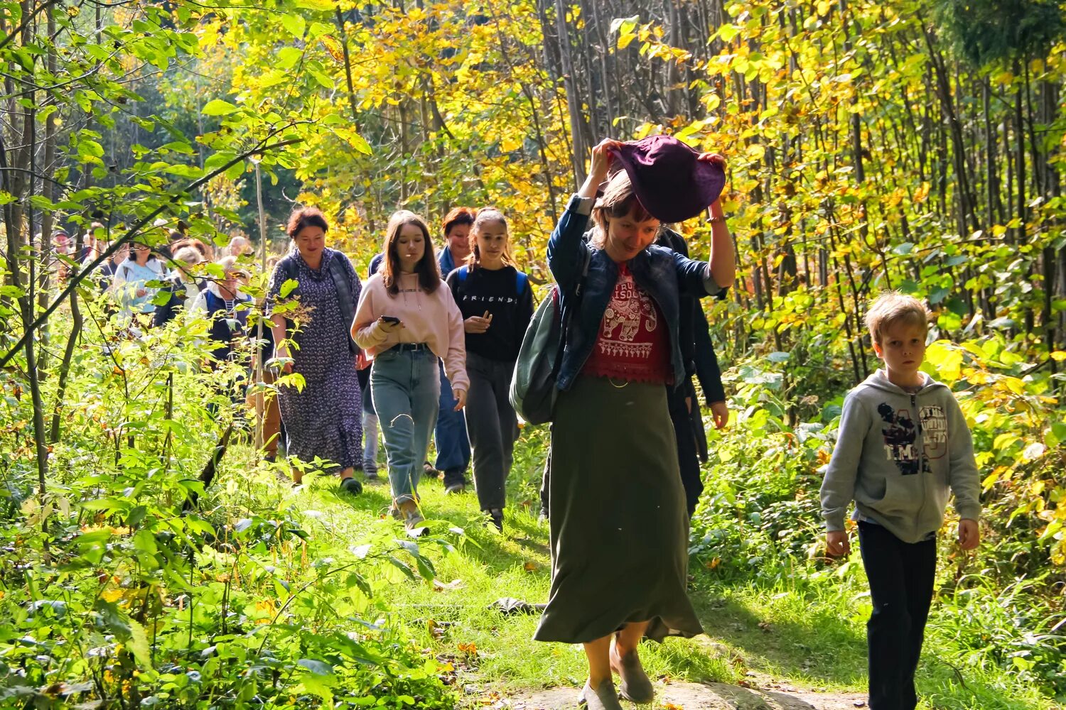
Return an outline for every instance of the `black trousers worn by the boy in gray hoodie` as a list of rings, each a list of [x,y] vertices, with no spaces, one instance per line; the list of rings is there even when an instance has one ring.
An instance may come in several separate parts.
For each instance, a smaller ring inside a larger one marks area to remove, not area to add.
[[[905,543],[879,525],[859,523],[859,548],[873,598],[867,622],[870,710],[914,710],[915,668],[933,601],[936,540]]]

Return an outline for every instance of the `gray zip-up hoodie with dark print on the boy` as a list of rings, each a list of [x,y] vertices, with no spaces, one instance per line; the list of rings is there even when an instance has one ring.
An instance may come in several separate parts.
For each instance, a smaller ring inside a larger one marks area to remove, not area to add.
[[[948,494],[959,517],[981,515],[973,442],[947,385],[926,376],[915,394],[892,384],[884,369],[847,393],[833,459],[822,481],[826,530],[868,519],[907,543],[943,525]]]

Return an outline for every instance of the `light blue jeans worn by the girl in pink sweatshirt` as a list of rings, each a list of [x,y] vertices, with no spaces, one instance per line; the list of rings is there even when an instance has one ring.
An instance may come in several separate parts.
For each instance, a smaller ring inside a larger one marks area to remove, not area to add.
[[[437,420],[437,358],[429,348],[391,347],[374,358],[370,390],[385,436],[392,497],[398,503],[418,500],[422,459]]]

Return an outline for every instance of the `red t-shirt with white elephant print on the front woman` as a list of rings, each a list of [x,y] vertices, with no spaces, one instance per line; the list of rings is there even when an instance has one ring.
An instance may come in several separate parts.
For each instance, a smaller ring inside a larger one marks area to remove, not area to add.
[[[633,282],[626,264],[618,264],[618,282],[581,371],[633,382],[666,384],[673,380],[666,323],[655,300]]]

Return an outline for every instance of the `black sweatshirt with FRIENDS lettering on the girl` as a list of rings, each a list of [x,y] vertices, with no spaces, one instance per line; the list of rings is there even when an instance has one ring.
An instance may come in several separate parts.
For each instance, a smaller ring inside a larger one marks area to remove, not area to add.
[[[459,269],[448,275],[448,285],[455,302],[463,312],[463,319],[492,315],[492,323],[484,333],[467,333],[467,352],[489,360],[514,362],[526,335],[526,328],[533,317],[533,293],[528,279],[521,279],[519,293],[518,270],[514,266],[499,269],[469,267],[465,280]]]

